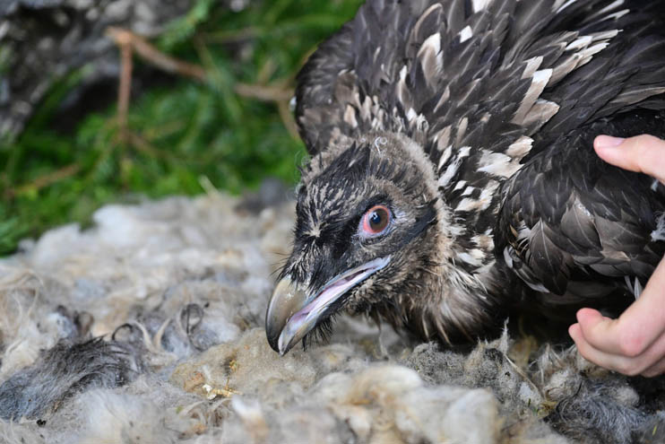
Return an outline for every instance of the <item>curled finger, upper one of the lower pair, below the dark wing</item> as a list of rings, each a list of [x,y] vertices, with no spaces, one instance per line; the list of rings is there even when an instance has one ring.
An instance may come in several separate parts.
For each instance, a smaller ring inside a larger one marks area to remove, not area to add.
[[[626,356],[643,353],[665,332],[665,259],[656,267],[640,298],[619,318],[581,309],[577,320],[584,339],[594,348]]]

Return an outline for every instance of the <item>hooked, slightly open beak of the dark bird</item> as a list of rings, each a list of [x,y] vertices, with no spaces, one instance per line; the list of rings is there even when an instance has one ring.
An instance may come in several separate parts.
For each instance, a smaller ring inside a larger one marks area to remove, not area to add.
[[[390,257],[379,257],[367,264],[333,277],[318,292],[307,292],[285,277],[277,284],[265,313],[265,334],[272,350],[283,355],[323,320],[324,313],[344,293],[387,266]]]

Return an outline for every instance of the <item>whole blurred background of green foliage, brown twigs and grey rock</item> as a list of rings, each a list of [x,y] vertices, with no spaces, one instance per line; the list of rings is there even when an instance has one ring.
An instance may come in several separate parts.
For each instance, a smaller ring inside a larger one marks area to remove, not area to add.
[[[108,202],[295,183],[295,75],[360,3],[0,1],[0,255]]]

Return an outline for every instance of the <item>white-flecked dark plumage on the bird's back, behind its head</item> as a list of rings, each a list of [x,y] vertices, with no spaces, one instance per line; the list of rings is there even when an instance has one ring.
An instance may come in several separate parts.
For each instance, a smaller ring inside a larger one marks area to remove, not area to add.
[[[312,154],[373,130],[419,142],[473,272],[494,260],[498,190],[525,161],[665,91],[664,5],[368,0],[298,75],[300,134]]]

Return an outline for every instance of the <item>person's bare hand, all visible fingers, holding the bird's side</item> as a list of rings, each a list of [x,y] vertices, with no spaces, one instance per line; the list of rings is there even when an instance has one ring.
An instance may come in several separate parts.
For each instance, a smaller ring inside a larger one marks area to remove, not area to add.
[[[665,141],[652,135],[618,139],[599,135],[593,142],[603,161],[643,172],[665,184]],[[617,319],[580,309],[568,328],[577,350],[609,370],[645,377],[665,372],[665,258],[638,300]]]

